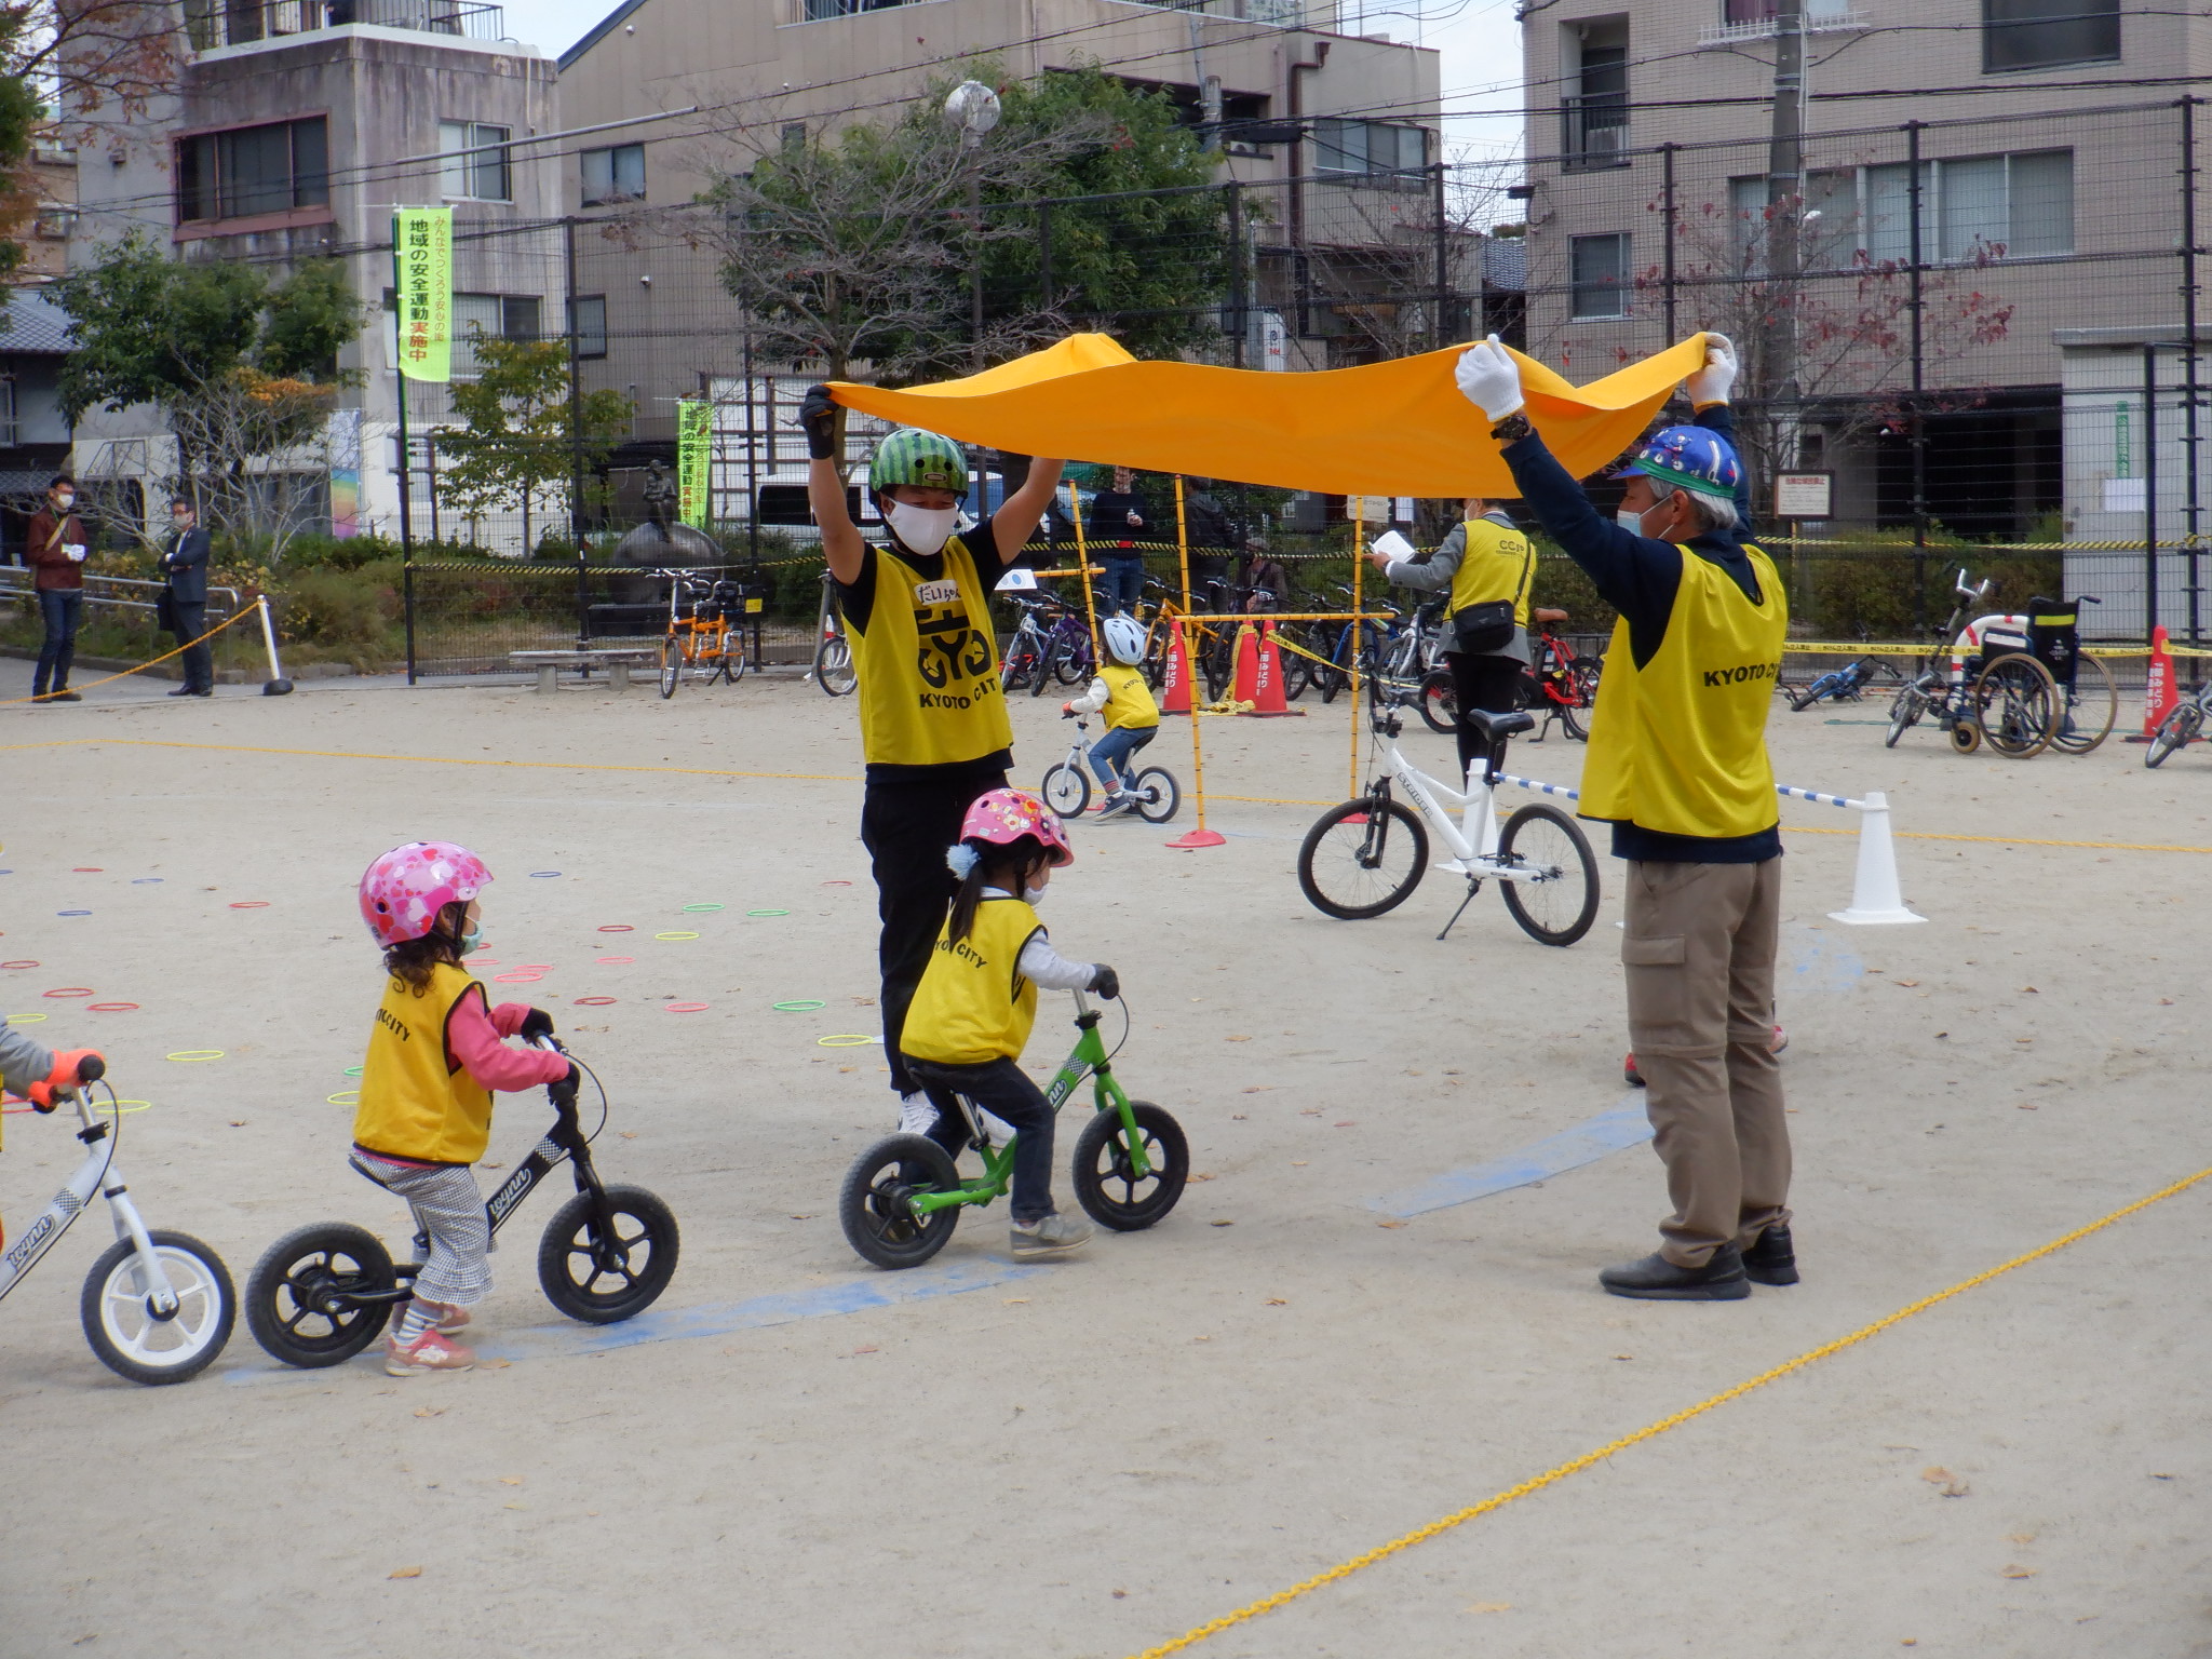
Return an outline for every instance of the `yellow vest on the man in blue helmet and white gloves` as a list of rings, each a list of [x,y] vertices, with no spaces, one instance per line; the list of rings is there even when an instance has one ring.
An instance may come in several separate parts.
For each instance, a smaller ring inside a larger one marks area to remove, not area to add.
[[[1752,604],[1734,577],[1681,549],[1666,637],[1637,668],[1628,619],[1615,624],[1590,710],[1582,816],[1723,841],[1772,830],[1767,710],[1783,666],[1790,599],[1774,560],[1745,542]]]

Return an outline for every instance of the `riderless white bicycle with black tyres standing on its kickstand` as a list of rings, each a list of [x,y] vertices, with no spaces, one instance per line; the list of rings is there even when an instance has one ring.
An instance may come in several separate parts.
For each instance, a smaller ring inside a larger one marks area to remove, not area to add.
[[[1467,878],[1467,898],[1451,911],[1444,933],[1495,880],[1522,931],[1540,945],[1573,945],[1597,920],[1597,856],[1559,807],[1531,803],[1498,825],[1493,796],[1504,774],[1506,741],[1535,728],[1535,717],[1462,714],[1482,739],[1484,761],[1467,768],[1467,790],[1453,790],[1398,752],[1398,710],[1378,710],[1374,732],[1385,741],[1383,772],[1356,801],[1329,807],[1298,847],[1298,887],[1329,916],[1365,920],[1402,905],[1429,872],[1429,836],[1444,847],[1436,863]],[[1398,794],[1405,794],[1416,814]],[[1460,807],[1453,823],[1447,807]]]

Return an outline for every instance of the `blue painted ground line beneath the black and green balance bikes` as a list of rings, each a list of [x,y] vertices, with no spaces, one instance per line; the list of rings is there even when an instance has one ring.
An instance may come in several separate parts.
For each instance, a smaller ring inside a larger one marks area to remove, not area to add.
[[[796,1325],[803,1318],[838,1318],[843,1314],[865,1314],[874,1307],[902,1307],[905,1303],[922,1303],[936,1296],[960,1296],[971,1290],[989,1290],[991,1285],[1011,1285],[1018,1279],[1031,1279],[1042,1272],[1046,1267],[1020,1267],[1011,1261],[993,1261],[989,1256],[931,1263],[929,1267],[880,1272],[869,1279],[847,1279],[814,1290],[752,1296],[741,1303],[653,1307],[622,1325],[571,1325],[566,1321],[560,1325],[526,1325],[476,1343],[476,1352],[487,1360],[551,1360],[575,1354],[608,1354],[617,1347],[639,1347],[644,1343],[690,1343],[701,1336],[732,1336],[734,1332],[757,1332],[770,1325]],[[352,1365],[374,1365],[380,1369],[383,1345],[372,1345]],[[228,1371],[230,1383],[283,1383],[312,1376],[319,1376],[319,1371],[296,1371],[274,1363]]]

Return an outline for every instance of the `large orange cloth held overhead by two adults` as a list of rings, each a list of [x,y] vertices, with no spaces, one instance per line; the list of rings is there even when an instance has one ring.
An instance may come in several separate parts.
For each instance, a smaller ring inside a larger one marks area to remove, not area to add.
[[[1139,363],[1106,334],[1071,334],[960,380],[905,389],[838,380],[847,409],[971,445],[1144,471],[1312,489],[1325,495],[1513,498],[1491,422],[1451,380],[1453,345],[1318,374]],[[1528,420],[1586,478],[1621,456],[1686,374],[1705,336],[1577,387],[1522,365]]]

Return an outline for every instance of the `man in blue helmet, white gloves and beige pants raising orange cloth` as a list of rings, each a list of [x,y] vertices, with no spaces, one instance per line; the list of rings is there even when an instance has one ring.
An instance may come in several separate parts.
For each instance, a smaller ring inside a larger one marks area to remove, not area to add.
[[[1774,1055],[1781,812],[1767,710],[1790,604],[1750,540],[1732,442],[1736,352],[1705,336],[1683,385],[1694,425],[1628,462],[1615,522],[1522,414],[1520,365],[1495,338],[1458,363],[1522,500],[1621,619],[1590,712],[1582,816],[1628,860],[1628,1035],[1674,1214],[1659,1250],[1606,1267],[1615,1296],[1739,1301],[1794,1285],[1790,1130]]]

